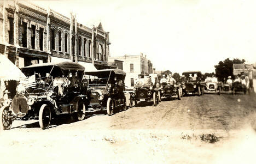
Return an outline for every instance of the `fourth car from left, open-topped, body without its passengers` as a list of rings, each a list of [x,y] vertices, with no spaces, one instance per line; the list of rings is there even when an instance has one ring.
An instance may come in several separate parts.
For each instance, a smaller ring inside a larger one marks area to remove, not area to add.
[[[177,83],[174,85],[171,85],[169,83],[162,83],[159,99],[161,100],[162,98],[171,98],[171,97],[175,97],[178,100],[181,100],[181,97],[182,97],[181,85]]]

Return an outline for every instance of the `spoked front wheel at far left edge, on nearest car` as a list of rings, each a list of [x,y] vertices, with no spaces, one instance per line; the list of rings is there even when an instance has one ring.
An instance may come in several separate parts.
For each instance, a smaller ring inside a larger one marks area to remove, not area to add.
[[[0,110],[0,129],[8,130],[13,124],[13,120],[11,119],[11,111],[9,110],[9,106],[3,106]]]

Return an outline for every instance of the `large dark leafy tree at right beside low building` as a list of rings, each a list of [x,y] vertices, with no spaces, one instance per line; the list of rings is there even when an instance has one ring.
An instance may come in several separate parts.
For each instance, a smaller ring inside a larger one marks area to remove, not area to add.
[[[219,81],[223,81],[224,78],[227,78],[228,76],[233,76],[233,64],[243,64],[245,63],[245,59],[238,59],[235,58],[233,60],[230,60],[229,58],[226,58],[224,61],[220,61],[218,65],[215,65],[215,72],[216,77],[218,77]]]

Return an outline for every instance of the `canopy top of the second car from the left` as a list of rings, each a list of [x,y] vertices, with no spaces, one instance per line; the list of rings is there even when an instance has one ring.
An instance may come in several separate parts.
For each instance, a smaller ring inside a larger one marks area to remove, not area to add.
[[[104,69],[104,70],[88,71],[88,72],[85,71],[85,75],[97,76],[100,78],[103,78],[103,77],[113,78],[114,76],[117,76],[124,79],[126,73],[121,69]]]

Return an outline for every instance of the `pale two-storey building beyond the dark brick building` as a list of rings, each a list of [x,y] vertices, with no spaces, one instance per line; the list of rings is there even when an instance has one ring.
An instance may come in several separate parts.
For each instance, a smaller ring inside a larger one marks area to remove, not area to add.
[[[126,72],[125,86],[129,88],[134,86],[135,79],[139,74],[143,77],[146,74],[154,73],[153,64],[143,53],[137,56],[108,57],[108,62],[114,62],[114,60],[123,61],[123,70]]]

